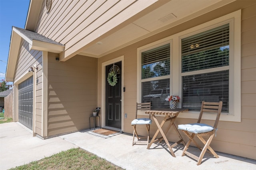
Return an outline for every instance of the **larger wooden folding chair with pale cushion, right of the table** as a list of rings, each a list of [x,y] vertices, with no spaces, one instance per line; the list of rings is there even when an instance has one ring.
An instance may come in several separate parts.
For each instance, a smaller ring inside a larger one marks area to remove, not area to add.
[[[187,154],[188,156],[196,159],[197,160],[197,165],[201,164],[202,158],[204,157],[204,154],[205,154],[207,149],[216,158],[219,157],[216,154],[216,152],[214,152],[214,150],[210,147],[210,143],[211,143],[211,141],[212,141],[212,139],[213,139],[213,137],[216,133],[216,130],[217,130],[217,125],[218,125],[218,122],[219,122],[219,119],[220,119],[221,109],[222,109],[222,102],[204,102],[203,101],[197,123],[191,123],[191,124],[186,124],[186,125],[178,125],[178,129],[182,130],[189,138],[189,141],[186,144],[186,146],[185,146],[185,148],[182,152],[182,156]],[[216,120],[215,120],[215,123],[214,123],[213,127],[210,126],[210,125],[200,123],[200,121],[202,119],[202,114],[205,113],[205,112],[217,113]],[[188,132],[190,132],[192,134],[190,135]],[[203,137],[208,136],[208,135],[209,135],[209,138],[207,139],[207,141],[205,141]],[[198,145],[198,143],[196,143],[196,141],[194,140],[194,136],[197,136],[200,139],[200,141],[204,144],[204,148],[201,148]],[[196,147],[198,147],[201,150],[201,153],[200,153],[199,157],[187,151],[191,142],[193,142],[196,145]]]

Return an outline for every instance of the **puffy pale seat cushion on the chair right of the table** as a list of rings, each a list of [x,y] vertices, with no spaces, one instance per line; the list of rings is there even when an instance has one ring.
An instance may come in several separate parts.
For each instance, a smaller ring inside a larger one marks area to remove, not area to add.
[[[203,123],[191,123],[186,125],[178,125],[178,129],[192,132],[192,133],[204,133],[204,132],[210,132],[214,128],[210,125],[206,125]]]

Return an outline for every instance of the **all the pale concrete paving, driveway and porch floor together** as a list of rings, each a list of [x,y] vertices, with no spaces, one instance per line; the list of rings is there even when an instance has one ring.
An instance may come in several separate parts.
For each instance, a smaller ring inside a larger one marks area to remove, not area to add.
[[[89,130],[88,130],[89,131]],[[256,160],[217,152],[220,158],[206,153],[202,164],[181,156],[183,145],[177,145],[172,157],[166,145],[132,146],[130,134],[119,134],[108,139],[80,131],[42,140],[32,137],[30,130],[19,123],[0,124],[0,170],[40,160],[61,150],[80,147],[126,170],[256,170]],[[64,139],[64,140],[63,140]],[[191,150],[195,148],[191,147]],[[198,153],[197,149],[195,150]]]

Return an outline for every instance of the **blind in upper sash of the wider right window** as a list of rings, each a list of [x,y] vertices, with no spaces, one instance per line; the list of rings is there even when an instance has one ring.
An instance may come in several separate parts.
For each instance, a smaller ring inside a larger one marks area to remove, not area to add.
[[[182,72],[229,65],[229,24],[182,39]]]

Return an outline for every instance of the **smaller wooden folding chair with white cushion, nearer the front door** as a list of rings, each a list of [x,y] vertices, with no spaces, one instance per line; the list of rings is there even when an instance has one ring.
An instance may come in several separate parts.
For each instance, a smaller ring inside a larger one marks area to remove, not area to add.
[[[134,129],[133,139],[132,139],[132,146],[135,143],[147,143],[147,145],[149,143],[149,140],[150,140],[149,131],[150,131],[150,125],[152,123],[152,120],[150,119],[150,115],[149,115],[149,118],[139,118],[139,119],[137,119],[137,113],[138,113],[138,110],[150,110],[150,109],[151,109],[151,102],[149,102],[149,103],[136,103],[136,116],[135,116],[135,119],[131,123],[131,125]],[[139,138],[138,133],[136,131],[136,125],[146,125],[148,136]],[[138,141],[134,141],[135,135],[136,135]],[[140,140],[142,138],[147,138],[147,141]]]

